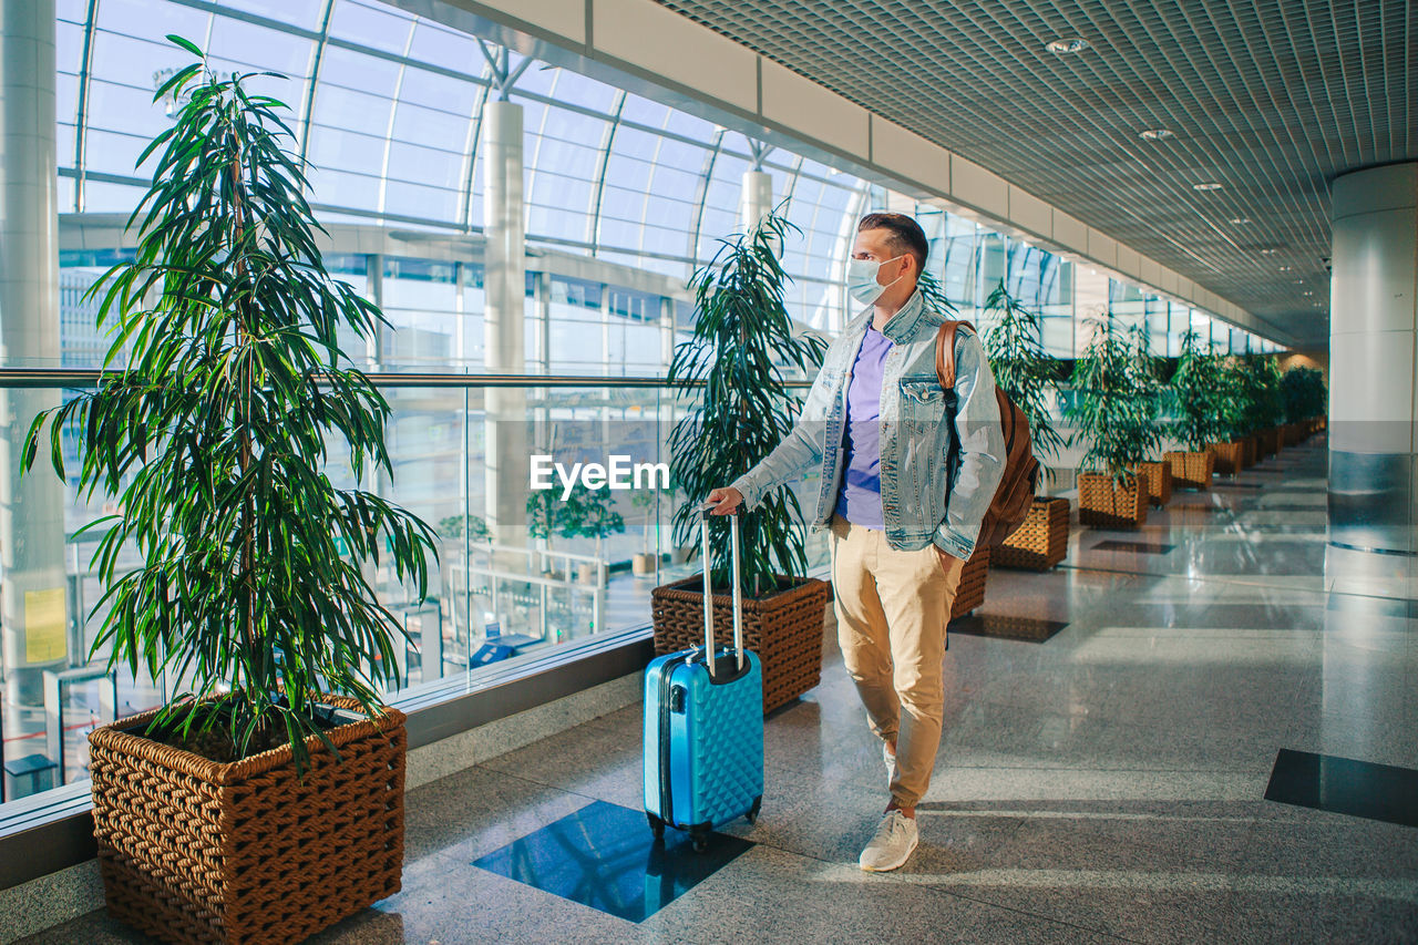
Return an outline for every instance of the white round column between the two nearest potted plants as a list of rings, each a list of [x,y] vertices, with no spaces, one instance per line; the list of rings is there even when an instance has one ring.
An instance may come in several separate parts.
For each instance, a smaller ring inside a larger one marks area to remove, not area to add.
[[[522,106],[488,102],[482,231],[484,333],[491,373],[526,372],[526,227],[522,200]],[[526,392],[486,392],[488,528],[498,542],[527,543],[527,411]]]

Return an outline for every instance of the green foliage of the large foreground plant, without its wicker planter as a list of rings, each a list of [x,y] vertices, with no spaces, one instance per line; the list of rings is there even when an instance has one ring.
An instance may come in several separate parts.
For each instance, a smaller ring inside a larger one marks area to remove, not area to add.
[[[377,707],[403,636],[364,559],[423,595],[437,548],[415,516],[323,472],[333,444],[356,471],[393,470],[389,404],[337,366],[343,332],[363,339],[386,321],[325,270],[301,160],[285,150],[288,109],[242,81],[199,62],[164,84],[189,94],[143,152],[157,160],[129,219],[135,260],[89,289],[106,363],[126,368],[37,417],[21,458],[33,464],[48,419],[55,471],[75,437],[79,495],[116,498],[92,558],[94,613],[106,614],[95,646],[111,665],[190,681],[159,724],[217,726],[241,752],[286,742],[303,765],[306,739],[328,744],[308,691]]]

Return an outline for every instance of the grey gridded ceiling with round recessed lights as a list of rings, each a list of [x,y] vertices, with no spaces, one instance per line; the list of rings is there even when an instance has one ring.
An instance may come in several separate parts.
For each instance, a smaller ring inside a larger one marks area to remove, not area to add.
[[[1412,0],[658,1],[1297,338],[1330,182],[1418,159]]]

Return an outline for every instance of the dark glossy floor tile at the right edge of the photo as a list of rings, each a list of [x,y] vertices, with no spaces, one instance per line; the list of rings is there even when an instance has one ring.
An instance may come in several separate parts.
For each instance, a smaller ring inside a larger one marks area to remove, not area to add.
[[[1266,800],[1418,827],[1418,770],[1282,748]]]

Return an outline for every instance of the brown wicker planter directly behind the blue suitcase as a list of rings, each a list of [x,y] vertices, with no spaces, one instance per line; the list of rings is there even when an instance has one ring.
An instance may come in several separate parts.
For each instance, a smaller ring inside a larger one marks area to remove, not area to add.
[[[783,579],[780,579],[783,580]],[[787,590],[743,599],[743,646],[763,663],[763,711],[787,705],[822,678],[822,619],[831,585],[794,580]],[[651,595],[655,653],[705,644],[703,575],[661,585]],[[716,646],[733,641],[733,597],[713,596]]]

